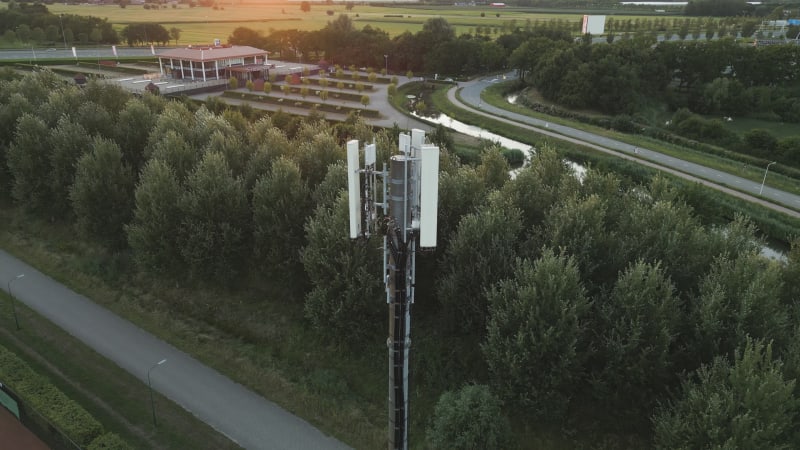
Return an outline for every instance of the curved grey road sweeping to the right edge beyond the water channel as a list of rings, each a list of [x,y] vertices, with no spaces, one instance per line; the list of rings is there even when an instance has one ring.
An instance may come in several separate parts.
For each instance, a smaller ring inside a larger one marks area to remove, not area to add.
[[[798,195],[764,186],[764,192],[759,196],[758,192],[761,189],[761,183],[756,183],[745,178],[731,175],[727,172],[684,161],[646,148],[637,148],[615,139],[517,114],[489,105],[481,100],[481,92],[484,89],[493,83],[504,81],[503,77],[508,79],[514,76],[512,72],[505,76],[498,75],[461,83],[459,85],[461,87],[461,98],[468,105],[457,98],[457,88],[455,87],[448,91],[447,97],[455,105],[473,113],[525,128],[555,139],[580,145],[588,145],[596,150],[635,160],[644,165],[670,172],[685,179],[700,182],[706,186],[713,187],[751,202],[759,203],[785,214],[800,217],[800,212],[797,211],[800,210],[800,196]],[[729,188],[728,186],[735,186],[735,189]],[[778,204],[772,202],[777,202]],[[789,209],[780,205],[788,205],[795,209]]]

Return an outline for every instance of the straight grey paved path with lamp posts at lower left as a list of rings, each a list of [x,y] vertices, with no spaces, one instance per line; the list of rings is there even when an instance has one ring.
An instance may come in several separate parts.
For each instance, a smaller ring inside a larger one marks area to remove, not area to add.
[[[24,278],[15,279],[19,274]],[[31,309],[247,449],[345,449],[306,421],[0,250],[0,281]],[[25,326],[24,324],[21,324]],[[1,446],[0,446],[1,447]]]

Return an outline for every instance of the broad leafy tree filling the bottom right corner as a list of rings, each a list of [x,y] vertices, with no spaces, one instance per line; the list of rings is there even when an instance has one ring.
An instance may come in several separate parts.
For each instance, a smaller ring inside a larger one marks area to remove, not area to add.
[[[748,338],[733,357],[716,357],[653,418],[655,447],[797,448],[800,407],[772,344]]]

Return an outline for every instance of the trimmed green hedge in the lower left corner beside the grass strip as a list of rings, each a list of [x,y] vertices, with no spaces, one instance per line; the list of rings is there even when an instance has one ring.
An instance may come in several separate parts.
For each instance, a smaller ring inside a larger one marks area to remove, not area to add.
[[[103,434],[103,426],[91,414],[3,346],[0,346],[0,380],[81,447],[130,448],[118,436]],[[92,447],[100,438],[102,441],[97,444],[100,446]]]

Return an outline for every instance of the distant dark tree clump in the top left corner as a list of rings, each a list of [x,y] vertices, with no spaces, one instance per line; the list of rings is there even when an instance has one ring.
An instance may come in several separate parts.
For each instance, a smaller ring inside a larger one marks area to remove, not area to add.
[[[0,36],[7,42],[36,45],[116,44],[117,32],[106,19],[51,14],[40,4],[10,1],[0,10]]]

